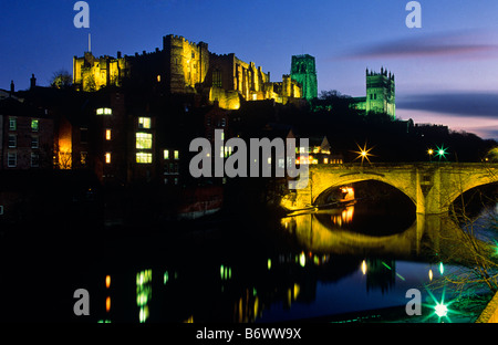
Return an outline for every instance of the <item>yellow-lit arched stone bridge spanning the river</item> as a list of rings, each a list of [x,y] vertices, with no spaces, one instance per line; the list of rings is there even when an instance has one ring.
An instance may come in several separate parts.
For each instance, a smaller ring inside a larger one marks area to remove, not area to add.
[[[421,215],[440,215],[463,192],[498,181],[498,164],[412,163],[310,165],[308,187],[282,198],[282,207],[300,210],[319,206],[333,188],[377,180],[404,192]]]

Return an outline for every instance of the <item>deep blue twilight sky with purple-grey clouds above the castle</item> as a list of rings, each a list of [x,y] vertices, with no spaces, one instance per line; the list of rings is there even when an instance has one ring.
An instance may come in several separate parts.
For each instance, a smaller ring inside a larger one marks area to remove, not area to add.
[[[319,93],[365,95],[365,69],[396,76],[396,115],[498,138],[498,1],[419,1],[422,28],[408,29],[407,0],[90,0],[90,29],[76,29],[76,1],[2,1],[0,88],[49,85],[72,72],[73,55],[162,49],[173,33],[236,53],[280,81],[291,55],[317,59]]]

